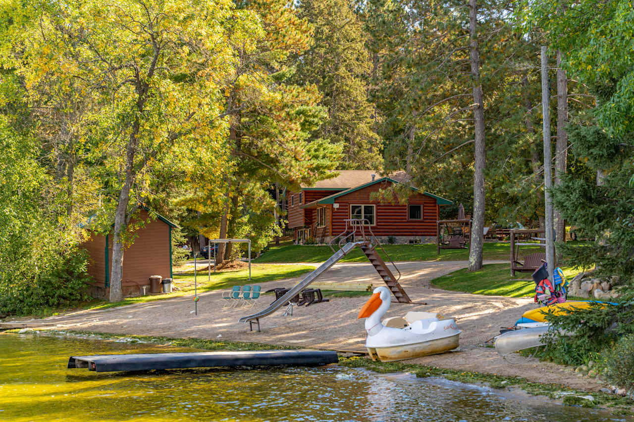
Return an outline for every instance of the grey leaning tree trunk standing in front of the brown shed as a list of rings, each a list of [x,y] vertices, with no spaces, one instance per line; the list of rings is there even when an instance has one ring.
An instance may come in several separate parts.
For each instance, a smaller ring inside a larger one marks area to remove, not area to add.
[[[123,253],[124,245],[122,234],[126,230],[126,211],[130,202],[130,189],[133,181],[134,150],[136,148],[136,132],[138,132],[138,122],[135,122],[135,129],[130,135],[130,141],[126,152],[126,178],[119,192],[119,201],[115,211],[115,227],[112,236],[112,267],[110,269],[110,302],[119,302],[123,299],[121,281],[123,278]],[[106,264],[107,265],[107,264]]]

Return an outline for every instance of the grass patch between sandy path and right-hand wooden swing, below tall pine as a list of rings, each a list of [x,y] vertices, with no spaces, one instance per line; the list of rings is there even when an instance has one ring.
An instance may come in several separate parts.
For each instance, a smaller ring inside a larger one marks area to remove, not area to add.
[[[580,272],[571,267],[562,267],[562,271],[568,280]],[[443,290],[476,295],[532,297],[535,294],[535,283],[531,274],[515,272],[515,276],[511,277],[510,264],[484,265],[481,270],[474,272],[461,269],[433,279],[432,285]]]

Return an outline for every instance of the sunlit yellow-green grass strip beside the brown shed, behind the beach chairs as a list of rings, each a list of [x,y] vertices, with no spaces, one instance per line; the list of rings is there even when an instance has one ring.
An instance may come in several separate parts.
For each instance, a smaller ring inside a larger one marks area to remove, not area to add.
[[[210,281],[207,281],[207,271],[198,272],[198,292],[219,290],[230,288],[235,285],[259,285],[266,281],[273,281],[285,278],[299,277],[302,274],[313,271],[314,267],[309,265],[251,265],[251,281],[249,282],[249,269],[240,269],[238,271],[219,271],[211,273]],[[172,297],[182,297],[193,295],[194,292],[194,274],[188,272],[185,274],[174,275],[174,286],[178,287],[178,291],[166,293],[164,295],[148,295],[140,297],[125,298],[120,302],[92,301],[82,309],[106,309],[122,305],[139,304],[144,302],[153,302],[154,300],[162,300]]]

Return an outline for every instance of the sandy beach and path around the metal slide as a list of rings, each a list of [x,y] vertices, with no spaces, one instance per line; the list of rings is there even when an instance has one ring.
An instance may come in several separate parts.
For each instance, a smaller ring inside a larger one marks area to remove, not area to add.
[[[494,263],[494,262],[491,262]],[[499,333],[500,327],[512,326],[521,314],[533,309],[532,298],[507,298],[470,295],[429,287],[433,278],[467,266],[467,262],[402,262],[401,284],[414,302],[427,305],[392,304],[385,317],[403,316],[409,310],[440,312],[454,317],[460,336],[460,350],[433,355],[412,362],[440,368],[464,369],[481,373],[521,376],[537,382],[562,383],[584,390],[598,390],[597,380],[580,378],[562,366],[517,357],[518,364],[503,360],[484,343]],[[271,281],[262,290],[290,287],[299,278]],[[370,264],[337,264],[320,277],[320,281],[382,283]],[[261,309],[273,297],[264,295],[255,309]],[[365,350],[363,320],[356,318],[366,297],[332,298],[330,302],[295,308],[293,316],[282,316],[283,309],[261,320],[262,332],[249,331],[249,324],[238,323],[238,318],[252,313],[246,309],[223,309],[221,291],[200,295],[198,316],[195,316],[192,297],[173,298],[147,304],[81,311],[49,317],[42,322],[53,323],[55,329],[78,329],[107,333],[156,335],[167,337],[197,337],[207,339],[259,342],[292,345],[306,348],[334,348],[336,350]]]

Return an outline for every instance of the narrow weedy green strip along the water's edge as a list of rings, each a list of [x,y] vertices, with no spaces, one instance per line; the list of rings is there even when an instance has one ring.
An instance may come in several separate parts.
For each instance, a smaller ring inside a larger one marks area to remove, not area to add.
[[[63,330],[48,328],[22,328],[3,331],[4,334],[29,334],[66,336],[86,338],[92,340],[146,343],[169,347],[190,347],[200,350],[266,350],[266,349],[297,349],[288,345],[271,345],[268,343],[234,342],[230,340],[208,340],[202,338],[178,338],[165,336],[145,336],[105,333],[100,331]],[[359,368],[375,373],[410,373],[417,378],[442,378],[448,381],[491,388],[498,393],[516,395],[518,400],[543,398],[562,406],[580,406],[600,411],[610,412],[613,416],[634,416],[634,400],[612,393],[587,392],[566,387],[556,383],[541,383],[526,380],[519,376],[505,376],[481,373],[476,371],[460,371],[457,369],[440,368],[418,363],[376,362],[368,357],[361,357],[352,353],[339,352],[339,366],[345,368]]]

